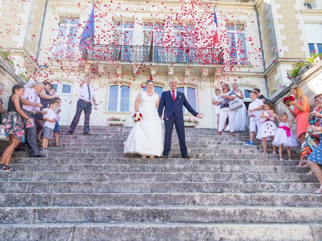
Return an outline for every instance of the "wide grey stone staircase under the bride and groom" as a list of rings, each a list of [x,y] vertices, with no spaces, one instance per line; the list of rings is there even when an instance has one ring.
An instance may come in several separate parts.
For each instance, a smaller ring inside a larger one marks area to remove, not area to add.
[[[169,159],[140,159],[122,153],[129,131],[62,128],[46,158],[16,153],[18,171],[0,172],[0,240],[322,240],[315,176],[245,146],[249,133],[186,129],[191,159],[175,132]]]

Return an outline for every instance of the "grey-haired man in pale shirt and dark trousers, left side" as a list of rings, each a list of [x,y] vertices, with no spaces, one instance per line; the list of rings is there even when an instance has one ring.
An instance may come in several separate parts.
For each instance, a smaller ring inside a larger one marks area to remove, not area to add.
[[[34,119],[34,121],[35,114],[46,114],[45,110],[40,110],[42,104],[40,103],[39,93],[43,91],[44,88],[45,85],[42,82],[35,82],[33,84],[33,88],[26,88],[24,95],[21,97],[21,101],[23,102],[23,111],[29,118]],[[39,154],[36,125],[30,128],[25,128],[25,135],[30,157],[45,157],[44,155]]]

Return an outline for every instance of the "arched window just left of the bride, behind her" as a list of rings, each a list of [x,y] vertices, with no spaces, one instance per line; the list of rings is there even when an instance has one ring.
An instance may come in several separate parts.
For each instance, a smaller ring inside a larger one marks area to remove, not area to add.
[[[129,111],[130,88],[127,85],[111,85],[109,88],[108,111]]]

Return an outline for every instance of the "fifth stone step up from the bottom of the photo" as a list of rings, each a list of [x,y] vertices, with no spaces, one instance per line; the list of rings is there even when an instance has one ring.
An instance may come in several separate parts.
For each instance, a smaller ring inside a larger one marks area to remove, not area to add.
[[[3,181],[110,181],[110,182],[313,182],[315,175],[298,173],[209,172],[0,172]]]

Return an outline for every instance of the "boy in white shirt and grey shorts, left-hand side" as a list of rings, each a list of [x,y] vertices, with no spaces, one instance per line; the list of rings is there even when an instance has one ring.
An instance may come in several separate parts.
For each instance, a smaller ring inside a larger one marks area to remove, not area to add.
[[[42,152],[48,152],[48,141],[53,137],[53,132],[56,124],[55,110],[58,107],[57,100],[52,99],[49,101],[49,108],[46,109],[47,114],[44,114],[44,129],[42,138]]]

